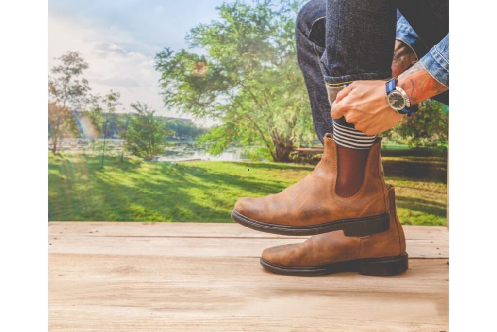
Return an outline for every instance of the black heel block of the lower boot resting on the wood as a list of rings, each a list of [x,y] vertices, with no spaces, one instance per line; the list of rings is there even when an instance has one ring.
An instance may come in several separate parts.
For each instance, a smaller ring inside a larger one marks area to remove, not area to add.
[[[367,258],[357,263],[360,274],[370,276],[391,276],[405,272],[409,267],[408,255],[396,257]]]

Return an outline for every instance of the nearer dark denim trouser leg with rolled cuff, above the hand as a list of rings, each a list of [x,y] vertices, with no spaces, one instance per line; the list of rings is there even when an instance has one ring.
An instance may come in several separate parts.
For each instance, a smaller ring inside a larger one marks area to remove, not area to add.
[[[391,77],[397,10],[391,0],[327,0],[321,58],[330,91],[352,81]]]

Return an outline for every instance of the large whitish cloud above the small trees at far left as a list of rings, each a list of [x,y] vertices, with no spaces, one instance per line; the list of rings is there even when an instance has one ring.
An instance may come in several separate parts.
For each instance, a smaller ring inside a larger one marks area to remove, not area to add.
[[[176,110],[164,108],[154,58],[128,50],[121,44],[122,40],[133,43],[119,31],[101,31],[49,15],[49,68],[58,63],[53,58],[67,51],[78,51],[89,64],[84,77],[89,81],[92,94],[105,95],[113,90],[121,94],[125,111],[129,111],[129,104],[142,101],[158,114],[181,116]]]

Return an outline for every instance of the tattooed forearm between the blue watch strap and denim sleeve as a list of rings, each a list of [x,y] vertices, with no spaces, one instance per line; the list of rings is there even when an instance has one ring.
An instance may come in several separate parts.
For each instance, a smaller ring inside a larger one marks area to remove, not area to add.
[[[449,90],[446,86],[438,83],[420,62],[416,62],[413,67],[402,73],[397,81],[398,85],[408,94],[411,105]]]

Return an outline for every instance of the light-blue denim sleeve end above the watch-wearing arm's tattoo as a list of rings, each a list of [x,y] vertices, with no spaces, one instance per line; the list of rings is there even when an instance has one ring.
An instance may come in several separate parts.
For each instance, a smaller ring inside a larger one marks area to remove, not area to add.
[[[438,44],[420,60],[426,71],[445,87],[449,87],[449,35],[447,34]]]

